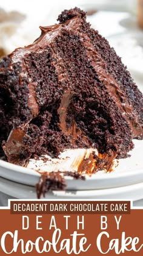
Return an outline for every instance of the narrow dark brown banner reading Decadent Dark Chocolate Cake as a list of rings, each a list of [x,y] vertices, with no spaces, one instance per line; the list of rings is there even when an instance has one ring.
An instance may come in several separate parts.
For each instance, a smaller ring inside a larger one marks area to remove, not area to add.
[[[130,201],[11,201],[12,214],[130,214]]]

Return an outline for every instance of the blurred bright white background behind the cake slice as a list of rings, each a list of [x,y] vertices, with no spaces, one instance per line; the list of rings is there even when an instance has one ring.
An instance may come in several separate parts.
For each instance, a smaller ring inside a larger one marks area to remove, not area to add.
[[[0,1],[0,55],[32,43],[39,26],[56,23],[64,9],[80,7],[108,39],[133,76],[143,74],[143,0]],[[143,79],[142,79],[143,80]]]

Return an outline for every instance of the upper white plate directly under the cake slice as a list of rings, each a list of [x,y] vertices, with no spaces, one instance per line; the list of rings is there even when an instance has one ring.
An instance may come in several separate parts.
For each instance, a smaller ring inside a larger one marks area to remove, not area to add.
[[[102,188],[115,188],[143,182],[142,148],[143,141],[135,140],[135,148],[131,157],[121,159],[114,172],[108,174],[93,174],[86,176],[85,180],[73,180],[65,177],[68,190],[97,190]],[[35,186],[40,174],[21,166],[13,165],[0,160],[0,176],[13,182]]]

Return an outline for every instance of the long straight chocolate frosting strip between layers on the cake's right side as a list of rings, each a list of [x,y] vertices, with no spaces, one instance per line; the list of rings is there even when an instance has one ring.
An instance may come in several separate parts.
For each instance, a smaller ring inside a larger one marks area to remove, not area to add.
[[[132,137],[136,138],[139,135],[142,135],[143,129],[139,125],[137,113],[134,113],[132,105],[128,104],[120,85],[116,82],[113,76],[108,73],[104,60],[102,60],[98,52],[95,51],[95,48],[91,44],[87,35],[82,34],[81,41],[87,50],[88,58],[90,59],[93,68],[95,68],[99,80],[101,80],[105,85],[111,98],[116,102],[116,105],[121,110],[122,115],[130,125]]]

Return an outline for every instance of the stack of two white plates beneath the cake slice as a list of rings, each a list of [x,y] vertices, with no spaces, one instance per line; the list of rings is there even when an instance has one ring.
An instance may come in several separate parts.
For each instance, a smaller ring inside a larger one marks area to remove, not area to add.
[[[121,159],[114,172],[93,174],[85,180],[66,178],[67,190],[52,191],[46,199],[143,199],[143,141],[134,141],[131,157]],[[0,161],[0,191],[9,197],[36,199],[35,184],[40,174]]]

